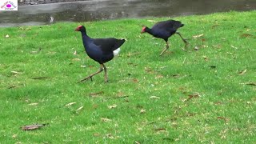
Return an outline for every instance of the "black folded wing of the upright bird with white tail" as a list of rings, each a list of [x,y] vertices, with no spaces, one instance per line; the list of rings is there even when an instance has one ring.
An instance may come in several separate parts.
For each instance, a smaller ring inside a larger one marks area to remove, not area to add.
[[[118,49],[125,42],[124,39],[116,38],[94,38],[93,42],[97,45],[104,53],[113,52]]]

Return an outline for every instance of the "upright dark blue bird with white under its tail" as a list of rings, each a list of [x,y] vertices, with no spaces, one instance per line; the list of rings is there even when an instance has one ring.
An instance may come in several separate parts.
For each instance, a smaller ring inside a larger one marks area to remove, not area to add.
[[[86,34],[85,26],[78,26],[75,31],[80,31],[82,33],[82,43],[86,49],[86,54],[101,65],[96,73],[90,74],[80,82],[86,81],[89,78],[92,79],[95,74],[101,73],[103,70],[105,73],[105,82],[108,82],[106,66],[104,63],[109,62],[120,52],[120,46],[122,46],[125,40],[116,38],[90,38]]]

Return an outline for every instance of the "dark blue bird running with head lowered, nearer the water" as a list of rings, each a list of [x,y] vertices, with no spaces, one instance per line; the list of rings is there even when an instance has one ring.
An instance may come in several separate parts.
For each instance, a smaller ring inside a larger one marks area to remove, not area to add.
[[[178,34],[181,38],[182,35],[177,32],[178,28],[184,26],[182,22],[179,21],[174,21],[174,20],[167,20],[167,21],[162,21],[162,22],[157,22],[154,24],[154,26],[150,29],[147,26],[142,27],[142,32],[141,33],[148,33],[153,35],[155,38],[162,38],[163,40],[166,41],[166,49],[162,50],[161,54],[162,55],[168,48],[168,38],[172,36],[173,34]],[[185,46],[187,46],[188,42],[186,42],[186,39],[182,38],[182,41],[185,43]]]

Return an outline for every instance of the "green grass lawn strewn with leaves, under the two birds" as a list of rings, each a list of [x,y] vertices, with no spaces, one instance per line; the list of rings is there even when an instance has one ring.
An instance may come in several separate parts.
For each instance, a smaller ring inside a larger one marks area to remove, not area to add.
[[[162,57],[165,42],[140,30],[168,18],[1,28],[0,142],[254,143],[256,87],[246,84],[256,83],[255,18],[255,10],[174,18],[190,46],[174,35]],[[109,83],[103,73],[76,83],[99,68],[74,32],[80,24],[92,38],[127,39],[106,63]],[[50,125],[20,129],[35,123]]]

